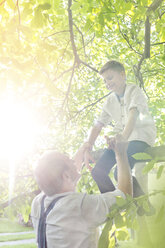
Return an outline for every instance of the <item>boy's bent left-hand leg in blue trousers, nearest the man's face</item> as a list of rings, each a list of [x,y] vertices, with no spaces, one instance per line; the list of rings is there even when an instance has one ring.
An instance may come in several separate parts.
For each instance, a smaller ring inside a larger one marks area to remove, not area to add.
[[[111,168],[115,164],[116,158],[114,151],[106,149],[91,172],[101,193],[115,190],[115,186],[108,176]]]

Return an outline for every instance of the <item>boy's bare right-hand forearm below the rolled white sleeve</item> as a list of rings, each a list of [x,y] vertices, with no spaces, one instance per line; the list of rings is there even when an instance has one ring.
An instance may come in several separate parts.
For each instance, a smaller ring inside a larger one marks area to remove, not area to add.
[[[128,114],[128,121],[125,125],[123,132],[122,132],[122,135],[126,140],[129,138],[129,136],[131,135],[131,133],[134,129],[138,114],[139,114],[139,112],[138,112],[136,107],[130,109],[129,114]]]

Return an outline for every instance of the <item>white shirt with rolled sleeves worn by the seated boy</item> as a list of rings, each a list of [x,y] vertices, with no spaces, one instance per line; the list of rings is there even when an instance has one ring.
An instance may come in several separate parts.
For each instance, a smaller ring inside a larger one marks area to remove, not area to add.
[[[127,84],[124,96],[121,98],[118,98],[114,92],[108,96],[98,122],[107,126],[114,121],[114,132],[121,133],[131,108],[137,108],[139,115],[128,141],[140,140],[152,146],[156,138],[156,127],[149,113],[147,100],[135,84]]]

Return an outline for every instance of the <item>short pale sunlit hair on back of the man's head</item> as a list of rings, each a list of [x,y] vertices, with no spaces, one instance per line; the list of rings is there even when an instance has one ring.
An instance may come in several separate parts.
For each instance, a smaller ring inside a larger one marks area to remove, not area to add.
[[[48,196],[60,193],[62,175],[69,170],[70,159],[59,152],[50,151],[44,153],[39,159],[34,175],[39,188]]]

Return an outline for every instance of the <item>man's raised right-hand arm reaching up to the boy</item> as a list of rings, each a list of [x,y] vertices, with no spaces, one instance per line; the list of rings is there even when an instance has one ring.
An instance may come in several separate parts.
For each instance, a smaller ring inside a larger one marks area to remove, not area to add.
[[[116,135],[115,154],[117,161],[118,189],[132,196],[132,176],[127,156],[128,144],[122,135]]]

